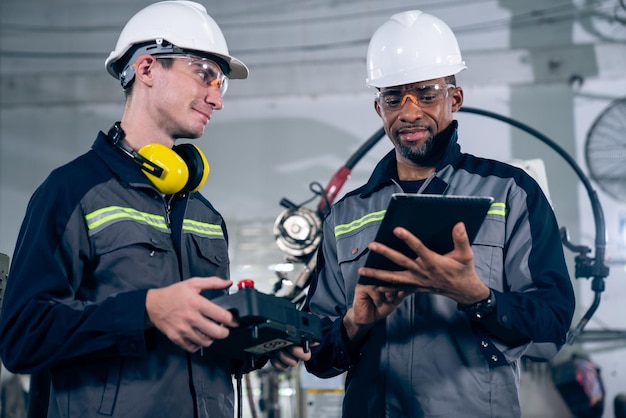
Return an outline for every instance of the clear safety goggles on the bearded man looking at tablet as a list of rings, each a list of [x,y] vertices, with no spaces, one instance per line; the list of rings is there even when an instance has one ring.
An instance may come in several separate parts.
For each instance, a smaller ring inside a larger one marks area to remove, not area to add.
[[[376,99],[383,110],[399,110],[407,100],[420,107],[429,107],[441,103],[454,84],[427,84],[424,86],[390,88],[376,93]]]

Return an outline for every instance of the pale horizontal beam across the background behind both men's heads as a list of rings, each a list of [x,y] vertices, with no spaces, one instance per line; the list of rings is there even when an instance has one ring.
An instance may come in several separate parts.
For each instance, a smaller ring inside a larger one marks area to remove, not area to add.
[[[584,79],[623,78],[626,47],[622,43],[514,49],[465,54],[464,86],[523,86],[572,83]],[[42,64],[41,68],[45,68]],[[121,103],[123,92],[104,69],[99,72],[5,73],[0,79],[0,107],[80,103]],[[251,66],[248,80],[234,80],[229,98],[363,93],[365,60],[296,62]]]

